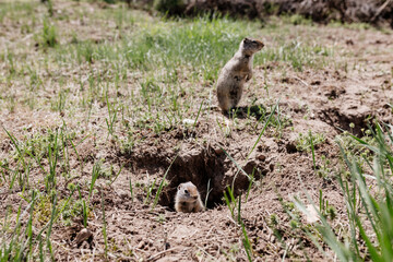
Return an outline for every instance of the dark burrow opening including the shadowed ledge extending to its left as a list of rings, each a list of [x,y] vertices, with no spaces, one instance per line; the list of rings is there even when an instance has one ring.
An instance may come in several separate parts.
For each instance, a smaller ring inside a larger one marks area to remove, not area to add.
[[[269,165],[265,162],[266,157],[261,156],[261,154],[253,154],[247,163],[234,158],[248,175],[253,174],[254,179],[258,180],[273,169],[273,165]],[[135,168],[156,167],[157,169],[157,167],[160,167],[160,172],[163,172],[170,166],[170,162],[175,157],[176,155],[168,156],[167,154],[157,153],[153,156],[150,153],[140,153],[138,154],[139,159],[134,159],[133,163]],[[249,177],[239,171],[235,163],[227,157],[218,145],[207,147],[186,146],[174,160],[166,180],[169,183],[163,189],[158,203],[171,210],[174,210],[175,205],[177,187],[182,182],[191,181],[195,184],[203,203],[207,190],[210,191],[206,203],[207,209],[214,209],[217,204],[223,203],[224,191],[228,186],[234,184],[235,196],[249,187]]]

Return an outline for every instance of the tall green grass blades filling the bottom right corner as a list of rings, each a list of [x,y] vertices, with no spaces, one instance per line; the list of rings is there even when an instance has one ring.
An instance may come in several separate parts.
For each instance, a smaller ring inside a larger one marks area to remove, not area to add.
[[[348,229],[336,235],[335,226],[326,219],[335,217],[335,210],[330,209],[322,193],[320,193],[320,223],[317,229],[323,236],[323,241],[330,246],[341,261],[391,261],[393,259],[393,138],[391,126],[376,124],[371,130],[373,143],[352,135],[352,139],[361,147],[372,153],[369,163],[370,171],[365,172],[356,152],[347,154],[342,142],[338,146],[349,171],[343,170],[337,178],[342,189],[343,200],[346,203],[349,219]],[[350,151],[349,151],[350,152]],[[308,201],[312,203],[308,195]],[[305,204],[297,201],[298,207],[307,213]],[[314,205],[314,204],[313,204]],[[312,234],[309,237],[314,245],[321,248]]]

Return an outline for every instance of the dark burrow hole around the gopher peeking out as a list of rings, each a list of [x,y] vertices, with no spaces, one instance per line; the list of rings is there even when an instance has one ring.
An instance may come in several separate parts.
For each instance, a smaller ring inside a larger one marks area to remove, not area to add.
[[[249,175],[253,171],[255,179],[260,179],[267,172],[262,162],[249,160],[241,167]],[[178,184],[191,181],[196,186],[202,202],[205,202],[210,191],[206,207],[213,209],[223,202],[223,193],[227,186],[234,183],[235,195],[249,187],[249,177],[238,170],[234,162],[219,147],[211,146],[181,152],[168,171],[169,184],[162,193],[159,204],[172,207]]]

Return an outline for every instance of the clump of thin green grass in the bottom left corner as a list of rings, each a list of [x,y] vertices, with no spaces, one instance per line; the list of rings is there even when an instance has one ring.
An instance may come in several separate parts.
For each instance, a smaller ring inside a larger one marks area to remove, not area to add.
[[[55,259],[51,231],[68,200],[58,202],[57,193],[43,195],[36,190],[26,192],[26,207],[5,211],[0,236],[1,261]]]

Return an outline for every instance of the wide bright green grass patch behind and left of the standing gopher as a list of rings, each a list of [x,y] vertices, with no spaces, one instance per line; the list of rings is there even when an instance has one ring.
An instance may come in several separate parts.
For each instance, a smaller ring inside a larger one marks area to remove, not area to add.
[[[151,71],[163,67],[190,67],[195,75],[201,74],[205,80],[213,81],[223,62],[229,60],[240,40],[251,34],[255,26],[218,17],[166,21],[143,25],[135,35],[123,37],[115,46],[86,44],[85,48],[76,47],[75,51],[76,57],[88,53],[86,61],[91,61],[91,55],[95,53],[96,60],[116,60],[130,69]],[[69,51],[74,52],[72,49]]]

